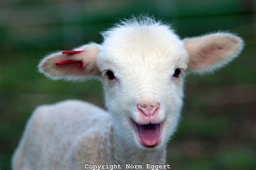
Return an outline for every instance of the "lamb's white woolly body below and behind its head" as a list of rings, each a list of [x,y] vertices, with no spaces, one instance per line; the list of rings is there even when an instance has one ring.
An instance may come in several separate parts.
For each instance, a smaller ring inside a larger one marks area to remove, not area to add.
[[[124,145],[119,150],[119,146],[120,140],[113,136],[109,113],[90,103],[64,101],[35,110],[16,150],[13,165],[14,169],[84,169],[85,164],[122,164],[125,167],[127,162],[164,163],[163,151],[139,157],[142,153]]]

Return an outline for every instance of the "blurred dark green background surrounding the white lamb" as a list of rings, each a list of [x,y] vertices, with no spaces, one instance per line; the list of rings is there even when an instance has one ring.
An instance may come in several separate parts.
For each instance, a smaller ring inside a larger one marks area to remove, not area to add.
[[[51,81],[40,59],[89,41],[120,18],[147,13],[172,23],[180,37],[231,31],[245,39],[239,58],[211,75],[189,75],[179,129],[167,163],[172,169],[256,168],[256,2],[0,1],[0,169],[10,160],[37,105],[69,98],[104,107],[97,81]]]

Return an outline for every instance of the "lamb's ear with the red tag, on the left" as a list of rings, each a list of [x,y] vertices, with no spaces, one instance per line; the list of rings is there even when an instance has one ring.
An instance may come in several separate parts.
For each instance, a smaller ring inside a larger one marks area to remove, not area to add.
[[[53,53],[46,56],[38,68],[54,80],[82,80],[87,76],[97,76],[100,74],[96,62],[99,51],[100,45],[90,43],[64,54]]]

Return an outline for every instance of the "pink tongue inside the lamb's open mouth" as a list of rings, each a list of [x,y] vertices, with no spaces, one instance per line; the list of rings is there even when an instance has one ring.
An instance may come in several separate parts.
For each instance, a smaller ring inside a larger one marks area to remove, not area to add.
[[[139,125],[139,136],[146,146],[154,146],[160,138],[159,124]]]

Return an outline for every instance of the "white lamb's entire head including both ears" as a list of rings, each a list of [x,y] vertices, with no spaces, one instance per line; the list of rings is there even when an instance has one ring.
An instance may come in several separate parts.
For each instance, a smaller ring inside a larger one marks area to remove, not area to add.
[[[243,46],[230,33],[180,40],[170,26],[149,18],[123,22],[103,37],[102,45],[76,48],[80,53],[51,54],[39,69],[52,79],[102,80],[117,135],[146,151],[165,146],[176,129],[185,73],[224,66]]]

